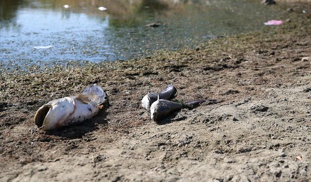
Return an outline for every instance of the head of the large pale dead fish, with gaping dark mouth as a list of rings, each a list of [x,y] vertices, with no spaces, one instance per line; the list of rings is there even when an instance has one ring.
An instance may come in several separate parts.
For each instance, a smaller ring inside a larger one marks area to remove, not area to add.
[[[64,121],[74,112],[75,106],[74,99],[69,97],[52,100],[35,113],[35,124],[42,131],[64,126]]]

